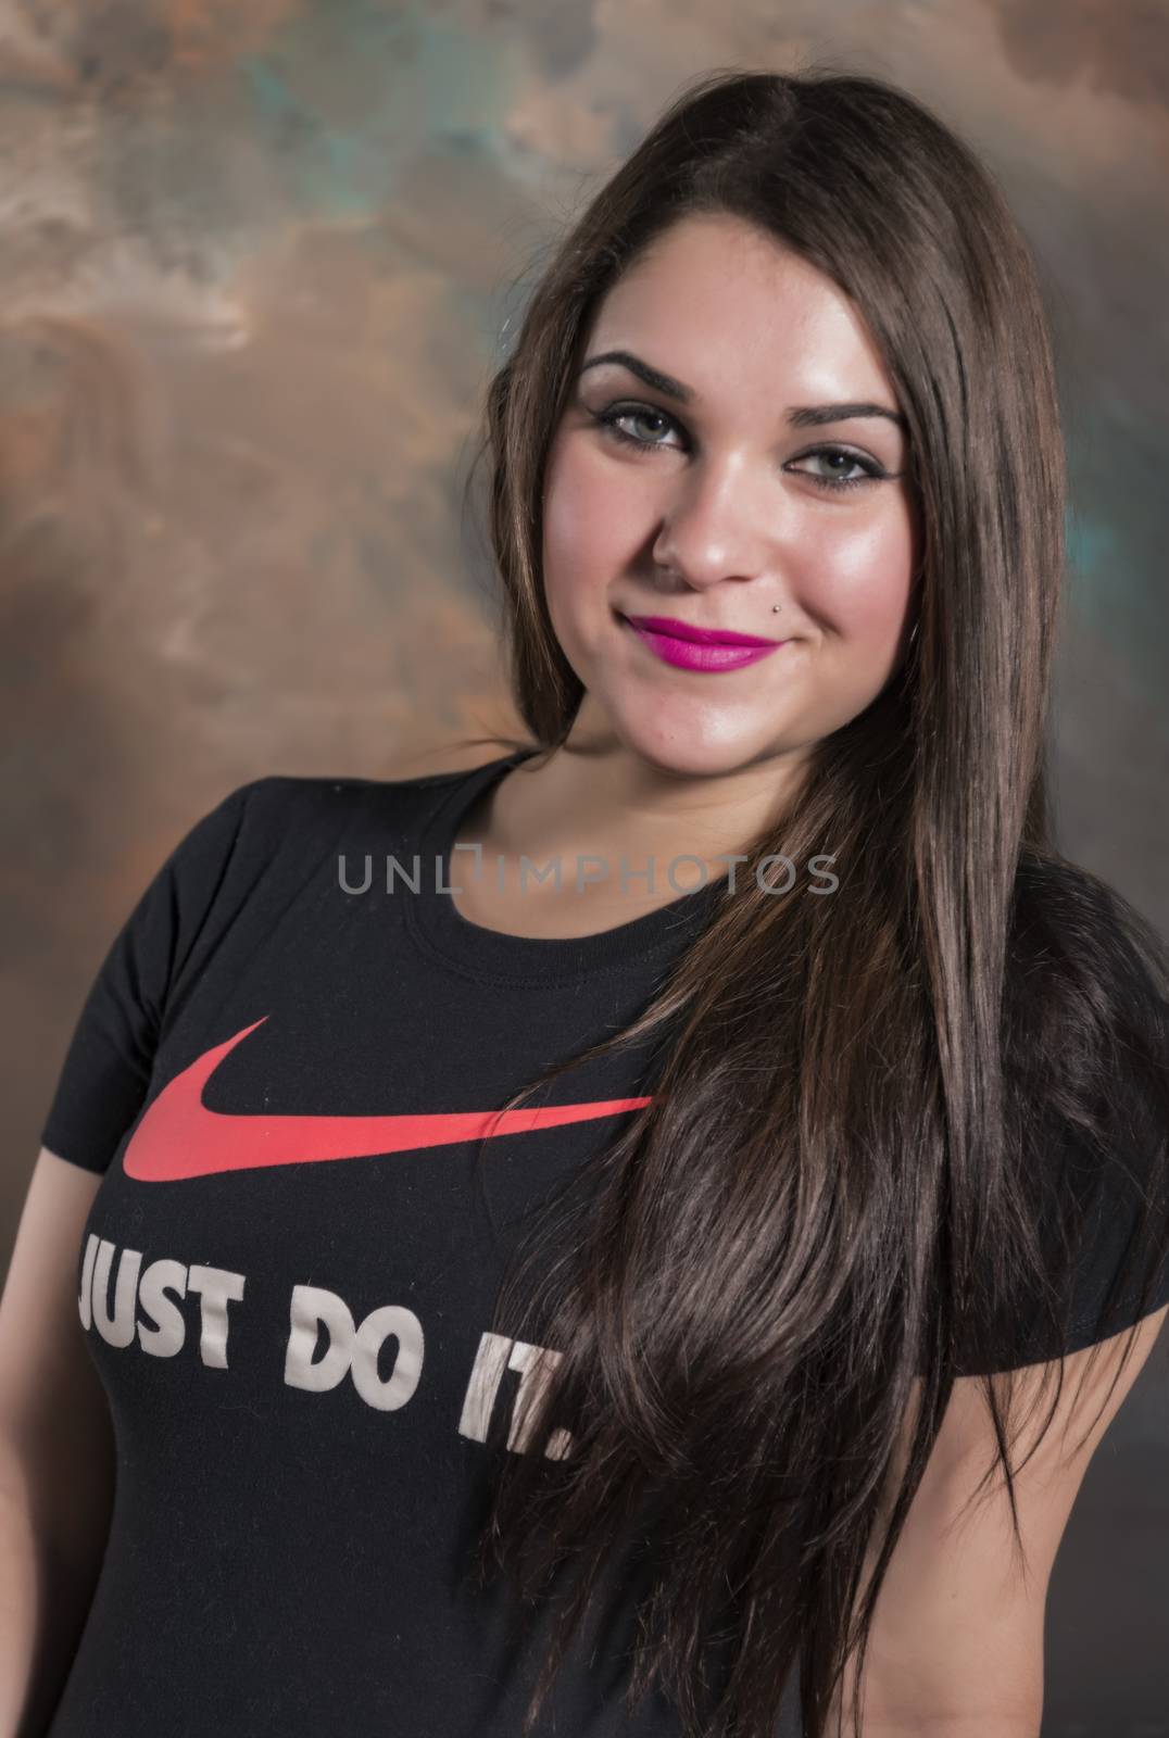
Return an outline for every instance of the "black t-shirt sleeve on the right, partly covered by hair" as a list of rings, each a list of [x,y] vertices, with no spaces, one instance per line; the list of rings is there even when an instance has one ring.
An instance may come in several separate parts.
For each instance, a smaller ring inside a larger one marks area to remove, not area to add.
[[[1066,1352],[1169,1302],[1166,947],[1068,859],[1021,866],[1014,916],[1004,1064],[1052,1272],[1075,1250]],[[1054,1356],[1039,1345],[1016,1361]]]

